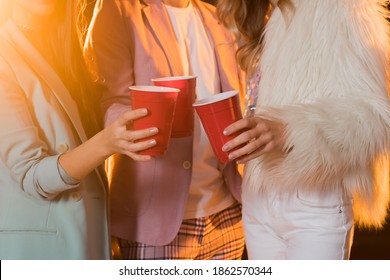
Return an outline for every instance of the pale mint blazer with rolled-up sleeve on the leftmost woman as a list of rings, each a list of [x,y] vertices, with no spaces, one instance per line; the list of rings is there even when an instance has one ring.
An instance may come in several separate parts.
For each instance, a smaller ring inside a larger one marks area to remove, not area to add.
[[[107,189],[58,171],[86,140],[61,79],[12,22],[0,25],[0,259],[109,259]]]

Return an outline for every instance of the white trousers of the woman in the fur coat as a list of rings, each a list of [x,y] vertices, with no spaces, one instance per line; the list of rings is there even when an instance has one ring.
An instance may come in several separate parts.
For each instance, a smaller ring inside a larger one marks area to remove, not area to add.
[[[348,259],[353,239],[350,195],[297,191],[277,196],[243,190],[249,259]]]

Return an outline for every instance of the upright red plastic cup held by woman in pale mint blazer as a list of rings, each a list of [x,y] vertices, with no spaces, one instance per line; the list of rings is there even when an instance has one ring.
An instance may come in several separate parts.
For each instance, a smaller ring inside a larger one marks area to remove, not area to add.
[[[133,129],[158,128],[156,135],[139,140],[146,141],[155,139],[157,144],[139,152],[139,154],[152,156],[163,155],[168,149],[171,139],[173,117],[179,90],[158,86],[132,86],[129,89],[132,108],[148,109],[147,116],[134,120]]]

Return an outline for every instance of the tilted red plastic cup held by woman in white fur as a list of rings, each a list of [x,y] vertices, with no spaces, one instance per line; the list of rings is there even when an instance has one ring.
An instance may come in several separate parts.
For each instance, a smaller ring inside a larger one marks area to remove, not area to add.
[[[240,133],[223,135],[227,126],[242,119],[238,93],[238,90],[226,91],[198,100],[193,104],[214,153],[221,162],[229,161],[229,154],[222,151],[222,146]]]

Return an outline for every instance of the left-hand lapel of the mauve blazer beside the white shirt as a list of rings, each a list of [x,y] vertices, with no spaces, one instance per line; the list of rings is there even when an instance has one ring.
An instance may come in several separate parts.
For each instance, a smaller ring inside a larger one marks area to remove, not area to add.
[[[164,50],[173,76],[183,75],[179,46],[169,15],[161,0],[145,0],[143,13],[152,28],[156,40]]]

